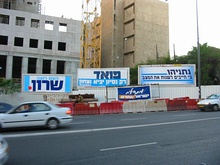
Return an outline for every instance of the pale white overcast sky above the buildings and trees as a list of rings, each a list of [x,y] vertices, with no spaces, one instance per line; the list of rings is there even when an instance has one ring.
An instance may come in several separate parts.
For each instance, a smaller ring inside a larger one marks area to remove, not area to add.
[[[186,55],[193,47],[207,43],[220,48],[220,0],[161,0],[169,4],[170,55]],[[42,14],[82,19],[82,0],[42,0]],[[197,26],[198,18],[198,26]],[[197,35],[197,27],[199,35]],[[198,37],[199,36],[199,37]]]

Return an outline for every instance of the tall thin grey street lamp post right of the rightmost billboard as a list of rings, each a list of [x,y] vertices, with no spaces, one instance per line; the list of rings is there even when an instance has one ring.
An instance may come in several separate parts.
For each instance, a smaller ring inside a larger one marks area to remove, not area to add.
[[[196,0],[196,23],[197,23],[197,67],[198,67],[198,88],[199,88],[199,99],[201,99],[201,66],[200,66],[200,44],[199,44],[199,14],[198,14],[198,0]]]

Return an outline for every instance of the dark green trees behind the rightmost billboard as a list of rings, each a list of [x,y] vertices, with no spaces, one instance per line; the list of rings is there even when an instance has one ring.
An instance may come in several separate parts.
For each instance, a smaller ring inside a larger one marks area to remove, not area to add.
[[[160,57],[158,60],[148,59],[144,64],[196,64],[197,74],[197,47],[193,47],[187,55],[175,56],[170,55]],[[138,83],[138,65],[130,69],[130,82],[132,85]],[[220,84],[220,49],[208,46],[207,43],[200,45],[200,66],[201,66],[201,85],[219,85]],[[197,77],[198,82],[198,77]]]

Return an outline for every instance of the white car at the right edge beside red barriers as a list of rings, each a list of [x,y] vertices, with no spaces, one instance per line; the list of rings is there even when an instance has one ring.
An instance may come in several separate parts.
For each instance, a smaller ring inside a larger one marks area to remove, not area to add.
[[[206,99],[199,101],[197,105],[201,111],[218,111],[220,108],[220,94],[212,94],[208,96]]]

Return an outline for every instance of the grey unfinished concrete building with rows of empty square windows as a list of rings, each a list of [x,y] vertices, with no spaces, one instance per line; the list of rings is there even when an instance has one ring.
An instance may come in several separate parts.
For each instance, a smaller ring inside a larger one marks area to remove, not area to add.
[[[71,74],[75,88],[81,21],[38,14],[39,0],[22,0],[32,9],[23,8],[20,1],[16,1],[17,5],[13,1],[19,10],[7,9],[1,6],[3,1],[0,3],[0,77]]]

